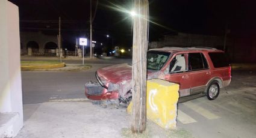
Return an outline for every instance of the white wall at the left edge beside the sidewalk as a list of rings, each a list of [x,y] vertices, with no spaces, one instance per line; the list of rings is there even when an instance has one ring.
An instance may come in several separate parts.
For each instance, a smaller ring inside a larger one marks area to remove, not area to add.
[[[17,113],[11,126],[15,136],[23,125],[19,8],[0,0],[0,21],[0,113]]]

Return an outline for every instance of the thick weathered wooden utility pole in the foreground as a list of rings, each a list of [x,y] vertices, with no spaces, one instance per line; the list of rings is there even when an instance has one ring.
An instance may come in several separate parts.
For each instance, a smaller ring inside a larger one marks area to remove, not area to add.
[[[134,1],[133,111],[131,131],[146,129],[146,55],[148,50],[148,0]]]

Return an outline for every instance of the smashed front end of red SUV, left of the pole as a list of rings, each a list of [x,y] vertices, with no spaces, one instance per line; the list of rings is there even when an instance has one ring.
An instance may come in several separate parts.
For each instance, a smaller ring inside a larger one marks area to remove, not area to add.
[[[113,65],[95,72],[97,82],[87,82],[86,97],[90,100],[119,100],[128,104],[131,100],[131,66]]]

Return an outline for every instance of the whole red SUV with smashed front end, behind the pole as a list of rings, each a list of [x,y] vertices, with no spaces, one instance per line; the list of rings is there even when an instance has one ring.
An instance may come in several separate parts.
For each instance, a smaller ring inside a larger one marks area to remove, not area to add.
[[[204,92],[209,100],[217,98],[220,88],[231,82],[231,67],[222,50],[210,47],[163,47],[151,49],[147,56],[148,79],[163,79],[180,84],[180,97]],[[98,82],[86,83],[91,100],[119,98],[131,100],[132,67],[113,65],[96,71]]]

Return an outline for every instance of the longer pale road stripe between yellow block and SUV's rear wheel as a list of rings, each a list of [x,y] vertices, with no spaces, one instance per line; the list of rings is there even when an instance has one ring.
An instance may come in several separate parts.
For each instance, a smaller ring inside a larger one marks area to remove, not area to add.
[[[214,115],[210,111],[192,103],[191,101],[187,101],[186,103],[183,103],[185,106],[189,107],[190,109],[194,110],[195,112],[199,113],[200,115],[204,116],[207,119],[217,119],[220,118],[220,116]]]

